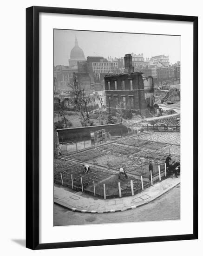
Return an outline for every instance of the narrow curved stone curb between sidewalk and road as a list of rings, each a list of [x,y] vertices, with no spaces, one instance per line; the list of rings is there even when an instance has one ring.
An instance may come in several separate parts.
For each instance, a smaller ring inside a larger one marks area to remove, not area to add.
[[[173,189],[175,188],[177,185],[179,185],[180,182],[178,182],[177,184],[171,186],[170,188],[166,189],[163,193],[159,193],[158,195],[154,196],[154,197],[151,197],[151,199],[147,202],[140,202],[138,205],[132,205],[131,207],[127,207],[127,208],[124,208],[124,209],[111,209],[111,210],[105,210],[105,211],[97,211],[97,210],[91,210],[91,211],[88,211],[88,210],[85,210],[85,209],[77,209],[75,207],[71,207],[69,205],[67,205],[66,203],[64,202],[60,202],[59,200],[57,199],[54,199],[54,203],[65,208],[65,209],[68,209],[68,210],[71,210],[71,211],[74,211],[74,212],[80,212],[80,213],[114,213],[114,212],[122,212],[122,211],[127,211],[127,210],[131,210],[131,209],[136,209],[140,206],[143,206],[149,202],[152,202],[154,201],[155,199],[157,199],[158,197],[160,197],[161,195],[164,195],[166,192],[170,191],[170,189]]]

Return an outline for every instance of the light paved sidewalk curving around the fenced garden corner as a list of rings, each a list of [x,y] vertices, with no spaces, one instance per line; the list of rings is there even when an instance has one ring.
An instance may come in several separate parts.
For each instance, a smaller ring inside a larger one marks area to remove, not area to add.
[[[54,203],[82,213],[112,213],[135,209],[163,195],[180,183],[178,178],[167,178],[145,189],[139,194],[121,198],[100,199],[81,191],[77,192],[62,186],[54,186]]]

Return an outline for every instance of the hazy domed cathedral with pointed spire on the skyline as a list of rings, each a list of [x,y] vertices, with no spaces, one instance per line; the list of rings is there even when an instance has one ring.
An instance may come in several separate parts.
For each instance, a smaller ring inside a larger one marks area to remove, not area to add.
[[[85,61],[85,54],[83,50],[79,47],[77,37],[75,36],[75,46],[71,50],[69,66],[77,67],[78,61]]]

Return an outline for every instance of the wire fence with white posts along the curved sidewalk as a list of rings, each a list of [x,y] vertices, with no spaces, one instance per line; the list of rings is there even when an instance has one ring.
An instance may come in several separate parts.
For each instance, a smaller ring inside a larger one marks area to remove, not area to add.
[[[142,175],[135,178],[128,174],[127,178],[125,176],[120,176],[120,179],[118,179],[118,174],[108,174],[106,179],[100,181],[97,173],[94,175],[91,173],[91,175],[89,175],[87,172],[86,174],[82,173],[81,175],[76,175],[74,173],[72,174],[63,171],[54,174],[54,182],[55,184],[76,191],[82,191],[93,196],[107,199],[136,195],[156,182],[161,182],[161,180],[166,178],[166,170],[160,165],[154,168],[152,173],[148,170],[148,174],[149,178]],[[152,176],[152,181],[150,175]]]

